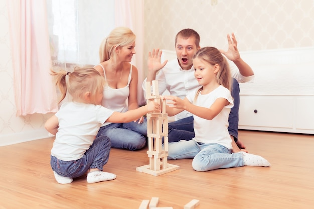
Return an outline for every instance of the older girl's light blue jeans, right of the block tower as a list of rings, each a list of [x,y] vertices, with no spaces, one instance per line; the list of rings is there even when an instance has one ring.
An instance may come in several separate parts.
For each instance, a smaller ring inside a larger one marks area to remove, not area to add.
[[[181,140],[168,144],[168,159],[191,158],[196,171],[244,166],[243,155],[220,144],[203,144],[194,140]]]

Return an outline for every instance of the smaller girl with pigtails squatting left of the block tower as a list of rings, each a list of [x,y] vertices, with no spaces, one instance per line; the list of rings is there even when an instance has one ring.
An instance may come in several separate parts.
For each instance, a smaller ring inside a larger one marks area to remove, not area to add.
[[[87,182],[113,180],[115,174],[103,172],[108,162],[111,142],[107,136],[96,137],[105,122],[133,121],[148,112],[160,110],[154,102],[124,113],[101,106],[105,79],[93,68],[75,68],[73,72],[52,71],[61,92],[59,103],[67,92],[72,101],[61,105],[59,111],[45,123],[55,135],[51,149],[51,167],[58,183],[67,184],[84,175]]]

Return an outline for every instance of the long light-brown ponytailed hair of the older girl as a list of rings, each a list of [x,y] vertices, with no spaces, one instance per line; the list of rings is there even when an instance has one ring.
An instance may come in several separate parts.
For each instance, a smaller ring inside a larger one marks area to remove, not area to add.
[[[193,59],[199,58],[211,65],[219,65],[219,71],[216,74],[216,81],[218,84],[224,86],[225,88],[231,91],[232,88],[232,79],[230,68],[227,59],[221,54],[221,52],[215,47],[203,47],[199,49],[196,54],[193,56]],[[199,95],[200,91],[203,89],[201,87],[196,95],[195,99]]]

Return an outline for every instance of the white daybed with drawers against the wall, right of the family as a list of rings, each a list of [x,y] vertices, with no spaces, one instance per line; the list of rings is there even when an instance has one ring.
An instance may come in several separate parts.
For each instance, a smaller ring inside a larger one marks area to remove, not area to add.
[[[239,129],[314,134],[314,48],[245,52],[253,83],[240,84]]]

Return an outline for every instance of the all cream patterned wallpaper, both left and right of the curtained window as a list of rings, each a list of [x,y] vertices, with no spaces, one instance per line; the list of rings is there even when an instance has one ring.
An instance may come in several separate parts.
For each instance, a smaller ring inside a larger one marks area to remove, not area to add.
[[[174,50],[183,28],[195,29],[201,46],[221,49],[227,49],[231,32],[240,51],[314,46],[313,0],[146,0],[144,10],[145,55],[153,48]],[[1,146],[42,137],[50,115],[15,116],[7,0],[0,0],[0,25]]]

